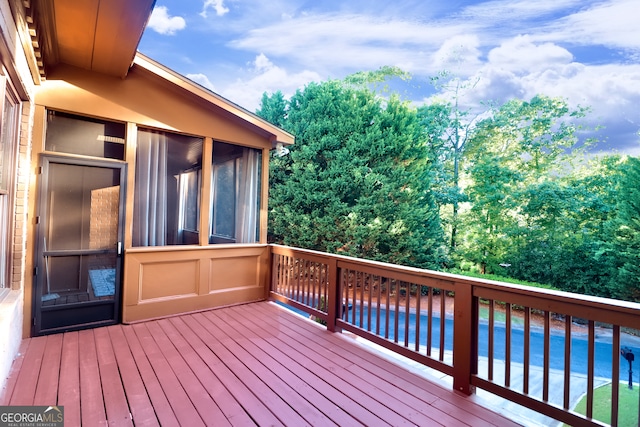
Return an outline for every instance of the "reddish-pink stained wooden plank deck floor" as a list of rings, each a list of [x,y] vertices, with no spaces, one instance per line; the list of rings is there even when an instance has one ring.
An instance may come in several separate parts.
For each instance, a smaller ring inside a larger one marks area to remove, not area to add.
[[[269,302],[24,340],[0,405],[68,426],[516,425]]]

